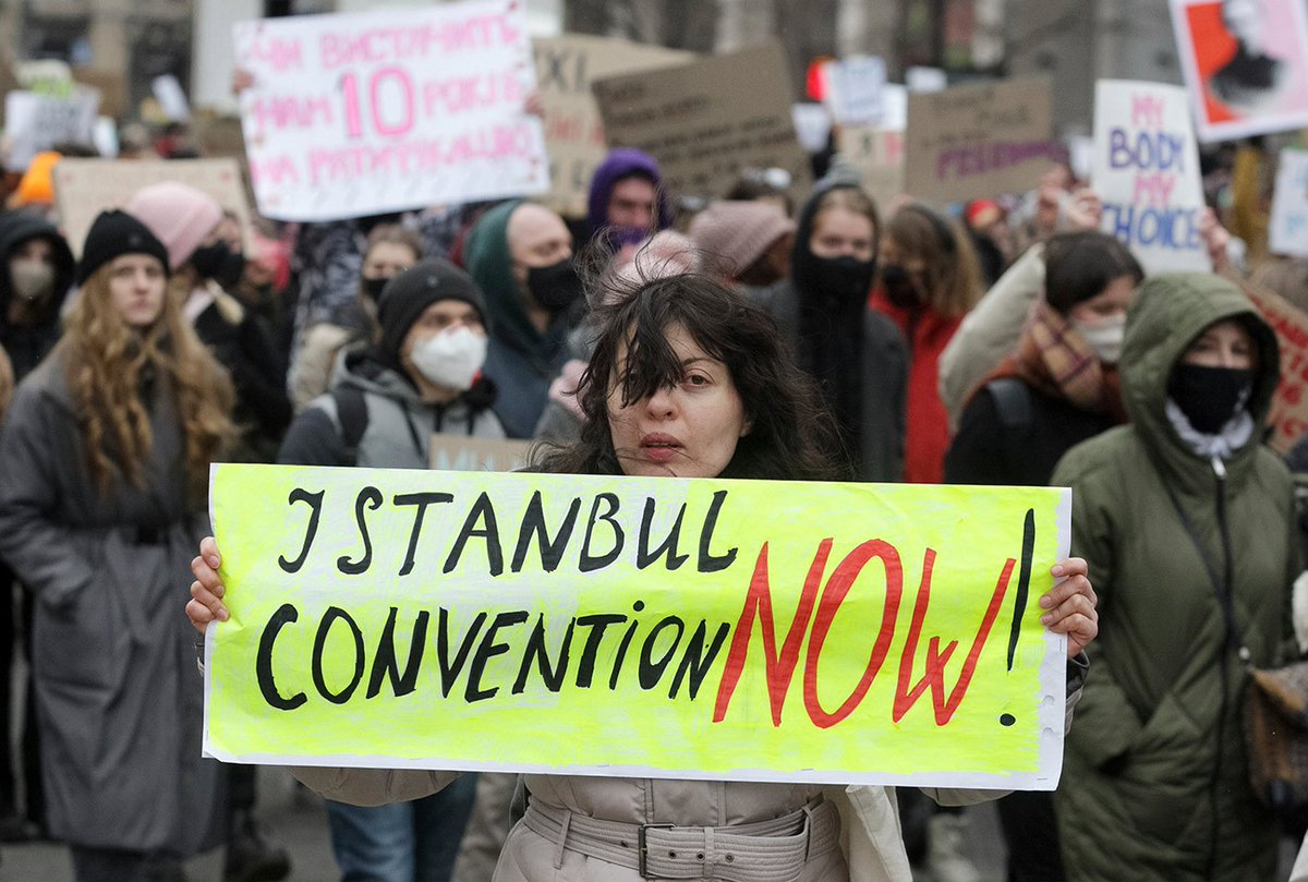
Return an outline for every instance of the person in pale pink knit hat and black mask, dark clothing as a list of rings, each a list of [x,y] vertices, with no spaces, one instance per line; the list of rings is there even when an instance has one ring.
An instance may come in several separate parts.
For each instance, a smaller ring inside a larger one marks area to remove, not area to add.
[[[220,236],[222,207],[208,194],[175,181],[143,187],[127,212],[167,247],[173,270],[170,293],[237,387],[237,423],[242,427],[237,455],[251,462],[273,458],[286,425],[290,399],[285,365],[271,331],[229,292],[241,280],[245,259]]]

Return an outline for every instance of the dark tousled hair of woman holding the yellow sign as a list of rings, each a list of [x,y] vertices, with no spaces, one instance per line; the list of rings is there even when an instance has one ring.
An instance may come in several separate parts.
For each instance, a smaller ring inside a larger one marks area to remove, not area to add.
[[[586,415],[581,438],[569,448],[539,449],[535,468],[621,474],[608,421],[610,390],[627,407],[681,382],[684,368],[667,340],[667,330],[681,325],[727,366],[751,423],[721,478],[849,478],[849,463],[837,461],[841,445],[821,395],[795,365],[772,315],[744,294],[708,276],[672,275],[624,292],[593,318],[599,336],[577,393]]]

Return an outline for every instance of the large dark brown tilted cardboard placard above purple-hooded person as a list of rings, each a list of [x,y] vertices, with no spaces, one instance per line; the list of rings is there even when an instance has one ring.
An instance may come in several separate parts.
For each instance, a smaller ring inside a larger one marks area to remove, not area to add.
[[[808,156],[795,139],[785,50],[772,43],[681,67],[596,80],[611,147],[658,160],[674,196],[725,194],[743,169],[783,169],[808,192]]]

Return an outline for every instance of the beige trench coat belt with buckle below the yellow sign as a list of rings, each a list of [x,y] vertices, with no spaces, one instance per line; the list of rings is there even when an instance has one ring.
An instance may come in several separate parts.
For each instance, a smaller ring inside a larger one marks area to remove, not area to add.
[[[820,798],[798,811],[727,827],[630,824],[531,802],[522,819],[556,845],[644,879],[794,882],[811,857],[840,845],[840,814]]]

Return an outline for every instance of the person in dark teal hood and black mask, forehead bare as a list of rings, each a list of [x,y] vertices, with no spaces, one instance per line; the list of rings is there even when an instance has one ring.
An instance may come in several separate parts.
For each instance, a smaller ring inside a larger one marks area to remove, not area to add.
[[[485,212],[463,245],[468,275],[485,292],[490,349],[485,373],[510,438],[530,438],[568,361],[568,332],[585,310],[572,236],[544,205],[510,200]]]

